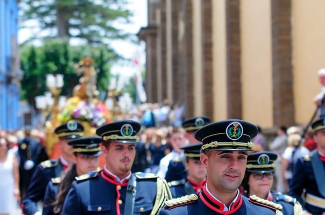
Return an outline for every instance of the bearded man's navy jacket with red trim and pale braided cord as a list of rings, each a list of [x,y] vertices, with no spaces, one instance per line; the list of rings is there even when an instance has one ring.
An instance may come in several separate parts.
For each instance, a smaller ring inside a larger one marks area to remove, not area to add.
[[[167,183],[154,174],[136,173],[134,215],[157,214],[171,195]],[[106,171],[78,177],[65,199],[62,215],[124,214],[127,182],[118,183]],[[130,206],[129,206],[130,207]]]

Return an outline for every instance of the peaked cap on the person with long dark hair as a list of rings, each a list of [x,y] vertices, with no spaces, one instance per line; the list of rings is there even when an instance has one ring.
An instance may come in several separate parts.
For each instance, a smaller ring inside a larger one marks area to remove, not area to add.
[[[73,153],[85,156],[98,156],[101,154],[100,137],[81,137],[70,140],[69,145],[73,147]]]

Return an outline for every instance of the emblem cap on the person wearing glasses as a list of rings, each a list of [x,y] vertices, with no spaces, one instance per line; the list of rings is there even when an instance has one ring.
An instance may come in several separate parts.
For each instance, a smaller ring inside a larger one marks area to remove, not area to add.
[[[278,155],[273,152],[262,151],[249,154],[246,169],[249,172],[273,172],[275,168],[274,161],[277,158]]]

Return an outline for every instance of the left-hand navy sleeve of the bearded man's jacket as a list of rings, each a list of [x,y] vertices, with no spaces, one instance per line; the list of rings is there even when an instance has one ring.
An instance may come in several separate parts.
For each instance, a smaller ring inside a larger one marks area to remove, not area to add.
[[[65,198],[62,215],[82,215],[79,193],[75,181],[72,183],[71,189]]]

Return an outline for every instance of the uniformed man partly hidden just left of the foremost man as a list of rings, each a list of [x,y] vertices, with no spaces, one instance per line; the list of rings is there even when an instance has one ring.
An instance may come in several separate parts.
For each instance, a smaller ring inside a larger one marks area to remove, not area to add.
[[[207,181],[207,171],[200,161],[202,143],[184,146],[187,179],[168,182],[173,198],[199,193]]]

